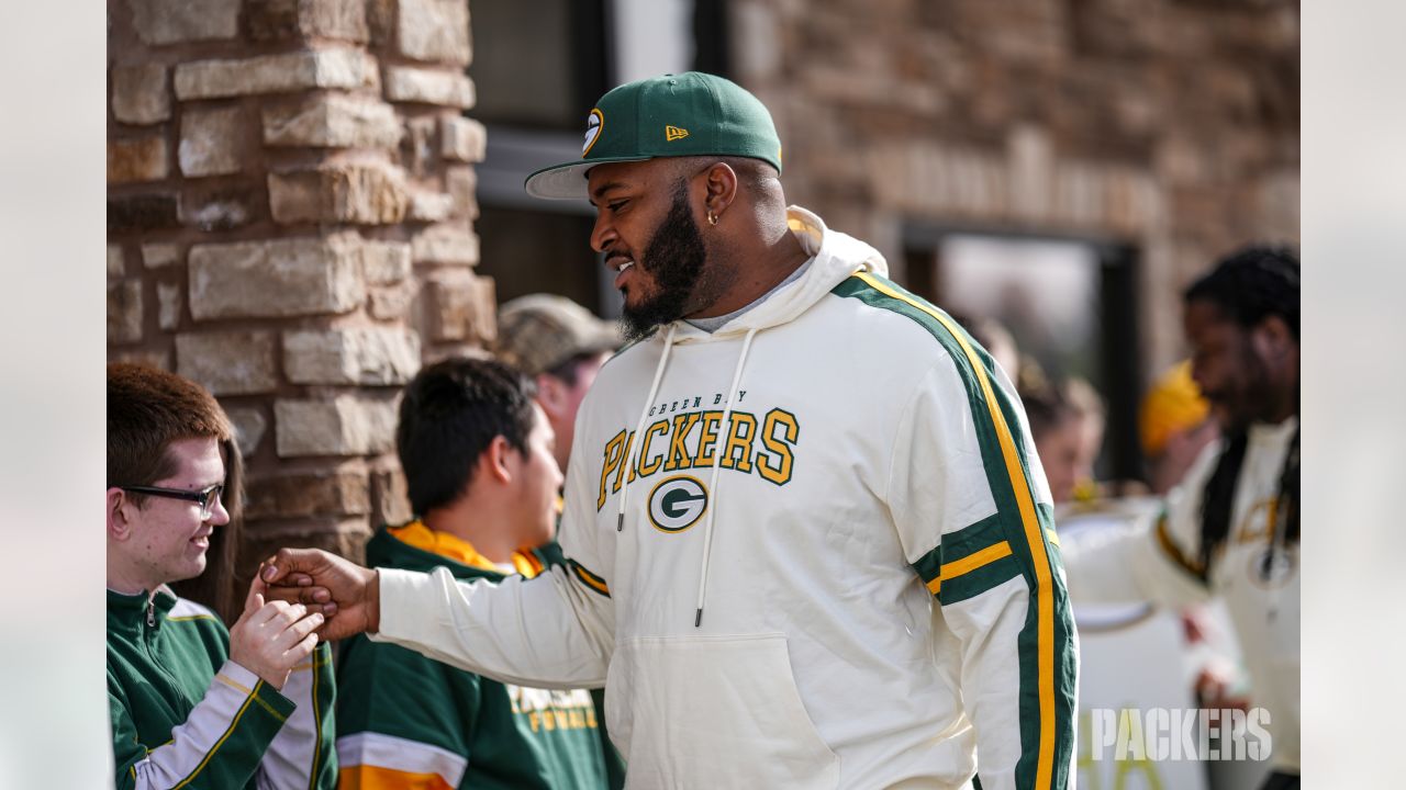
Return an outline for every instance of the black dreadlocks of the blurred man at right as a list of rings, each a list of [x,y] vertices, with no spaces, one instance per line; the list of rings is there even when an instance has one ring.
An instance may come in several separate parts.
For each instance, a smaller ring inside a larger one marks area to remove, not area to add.
[[[1222,259],[1216,267],[1197,280],[1182,294],[1182,301],[1204,301],[1216,305],[1227,320],[1241,329],[1253,329],[1270,316],[1278,316],[1299,339],[1299,260],[1285,247],[1249,246]],[[1295,389],[1298,384],[1295,384]],[[1295,394],[1295,412],[1298,395]],[[1230,512],[1234,505],[1236,481],[1244,464],[1247,430],[1241,426],[1226,436],[1225,450],[1206,481],[1201,510],[1201,566],[1209,572],[1211,559],[1230,534]],[[1299,538],[1299,434],[1294,433],[1275,507],[1271,510],[1274,547]],[[1265,566],[1268,572],[1268,565]]]

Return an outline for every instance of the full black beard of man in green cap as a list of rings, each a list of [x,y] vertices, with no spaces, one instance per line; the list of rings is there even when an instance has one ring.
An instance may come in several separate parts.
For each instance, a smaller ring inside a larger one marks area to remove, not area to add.
[[[643,340],[655,328],[678,320],[699,309],[693,305],[695,291],[707,263],[707,249],[689,209],[688,184],[679,183],[673,191],[669,214],[654,229],[644,256],[634,264],[654,280],[657,292],[634,306],[628,304],[620,315],[620,328],[627,343]]]

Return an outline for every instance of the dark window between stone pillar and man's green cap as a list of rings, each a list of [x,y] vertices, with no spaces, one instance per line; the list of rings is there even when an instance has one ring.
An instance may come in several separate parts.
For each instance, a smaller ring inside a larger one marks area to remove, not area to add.
[[[561,294],[614,318],[620,295],[591,250],[593,209],[523,191],[534,170],[581,156],[586,114],[612,86],[702,69],[725,75],[721,0],[472,0],[478,105],[488,127],[478,166],[478,273],[499,302]]]

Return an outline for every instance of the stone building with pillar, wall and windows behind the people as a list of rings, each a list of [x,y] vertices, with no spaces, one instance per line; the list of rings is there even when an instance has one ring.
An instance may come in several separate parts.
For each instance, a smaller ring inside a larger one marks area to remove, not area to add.
[[[484,353],[523,294],[619,312],[591,207],[523,179],[579,156],[612,86],[699,69],[770,108],[790,202],[1004,336],[1022,389],[1087,385],[1081,498],[1157,488],[1139,409],[1185,356],[1181,288],[1246,242],[1299,242],[1299,18],[1282,0],[108,0],[107,358],[188,375],[236,422],[243,581],[280,545],[360,558],[409,517],[394,409],[420,364]]]

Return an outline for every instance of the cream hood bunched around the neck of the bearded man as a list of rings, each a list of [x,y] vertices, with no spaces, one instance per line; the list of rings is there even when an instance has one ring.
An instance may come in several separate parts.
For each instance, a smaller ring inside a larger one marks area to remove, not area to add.
[[[825,222],[820,216],[799,205],[786,209],[786,225],[806,254],[811,256],[806,274],[711,335],[685,320],[673,322],[675,343],[735,337],[754,329],[765,330],[779,326],[799,318],[856,270],[870,271],[880,277],[889,276],[889,261],[879,250],[848,233],[825,228]],[[651,342],[661,343],[665,335],[668,330],[655,332]]]

